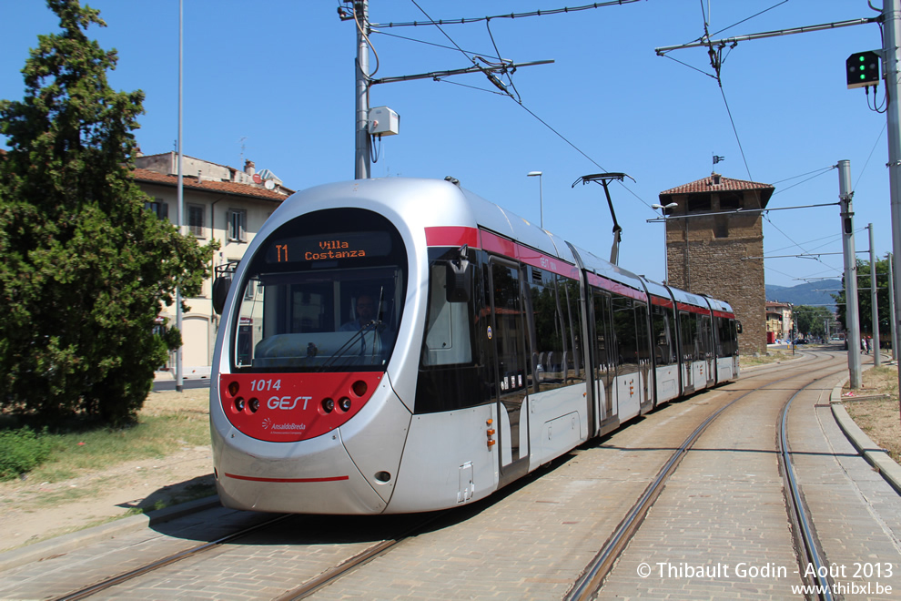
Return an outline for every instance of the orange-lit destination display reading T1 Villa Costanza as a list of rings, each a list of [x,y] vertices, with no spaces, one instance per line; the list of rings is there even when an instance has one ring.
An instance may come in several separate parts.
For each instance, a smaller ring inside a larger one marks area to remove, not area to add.
[[[387,231],[352,231],[275,239],[266,250],[267,263],[314,263],[385,257],[391,252]]]

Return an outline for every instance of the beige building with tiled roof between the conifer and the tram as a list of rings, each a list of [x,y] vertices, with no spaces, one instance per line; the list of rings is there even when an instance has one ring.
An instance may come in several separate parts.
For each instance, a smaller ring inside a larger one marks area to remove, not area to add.
[[[138,156],[133,178],[150,197],[147,209],[160,219],[178,219],[177,154]],[[263,222],[294,190],[263,169],[257,173],[252,161],[244,170],[200,160],[182,158],[182,211],[185,230],[206,244],[219,242],[213,258],[215,269],[244,256],[248,243]],[[182,315],[182,372],[185,377],[208,375],[218,331],[218,315],[212,307],[212,279],[204,282],[197,298],[186,299],[190,308]],[[161,321],[175,325],[175,306],[164,308]],[[175,369],[175,358],[169,366]]]

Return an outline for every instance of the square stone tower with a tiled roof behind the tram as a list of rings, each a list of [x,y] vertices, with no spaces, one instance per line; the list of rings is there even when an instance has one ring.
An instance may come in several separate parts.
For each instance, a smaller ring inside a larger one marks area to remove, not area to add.
[[[742,354],[766,351],[763,212],[774,187],[709,178],[660,193],[666,216],[666,283],[733,306]]]

